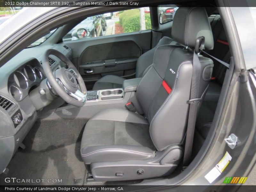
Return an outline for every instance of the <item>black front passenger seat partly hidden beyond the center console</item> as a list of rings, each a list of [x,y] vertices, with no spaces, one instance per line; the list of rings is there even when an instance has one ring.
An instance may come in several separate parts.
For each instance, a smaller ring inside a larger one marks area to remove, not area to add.
[[[160,39],[158,44],[150,49],[149,51],[142,54],[136,63],[136,74],[135,78],[143,77],[147,69],[152,65],[154,53],[156,48],[161,45],[168,45],[168,44],[176,44],[170,37],[163,37]],[[106,75],[100,78],[94,85],[92,90],[103,90],[103,89],[114,89],[114,88],[122,88],[125,78],[119,77],[116,75]]]

